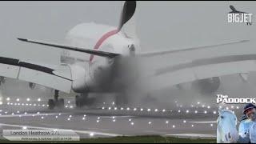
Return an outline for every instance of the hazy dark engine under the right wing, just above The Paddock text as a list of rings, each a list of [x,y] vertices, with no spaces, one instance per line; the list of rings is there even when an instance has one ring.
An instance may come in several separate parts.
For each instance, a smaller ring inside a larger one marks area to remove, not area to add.
[[[192,82],[192,87],[198,90],[201,94],[213,94],[220,86],[218,77],[200,79]]]

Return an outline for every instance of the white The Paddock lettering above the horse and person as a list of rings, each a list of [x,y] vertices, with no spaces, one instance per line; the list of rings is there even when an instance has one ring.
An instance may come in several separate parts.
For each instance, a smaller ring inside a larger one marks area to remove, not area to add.
[[[245,103],[256,103],[255,98],[228,98],[228,95],[217,94],[217,103],[227,104],[245,104]]]

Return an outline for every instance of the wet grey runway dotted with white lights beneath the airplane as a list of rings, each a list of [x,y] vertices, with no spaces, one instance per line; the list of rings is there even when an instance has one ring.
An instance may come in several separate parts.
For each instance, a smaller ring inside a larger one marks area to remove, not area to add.
[[[40,101],[39,101],[40,100]],[[102,103],[95,108],[76,109],[66,99],[64,110],[48,110],[46,98],[6,98],[0,105],[0,129],[68,129],[80,138],[157,134],[178,137],[216,136],[218,108],[201,103],[171,109],[116,107]],[[230,106],[230,109],[238,107]]]

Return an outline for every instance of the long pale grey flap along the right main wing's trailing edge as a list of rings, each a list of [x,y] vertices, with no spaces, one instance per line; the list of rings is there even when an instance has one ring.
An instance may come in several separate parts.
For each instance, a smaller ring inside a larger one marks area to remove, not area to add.
[[[161,74],[146,80],[145,89],[161,90],[170,86],[194,80],[221,77],[230,74],[243,74],[256,71],[255,60],[246,60],[238,62],[223,62],[203,66],[193,66],[174,70],[170,73]]]

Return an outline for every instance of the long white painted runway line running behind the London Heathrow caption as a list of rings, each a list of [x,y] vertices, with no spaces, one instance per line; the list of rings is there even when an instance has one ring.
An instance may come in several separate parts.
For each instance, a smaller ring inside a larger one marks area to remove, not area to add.
[[[6,123],[0,123],[0,126],[11,126],[11,127],[23,127],[25,125],[11,125],[11,124],[6,124]],[[27,128],[31,129],[57,129],[57,130],[65,130],[65,129],[58,129],[58,128],[50,128],[50,127],[40,127],[40,126],[26,126]],[[94,131],[89,131],[89,130],[74,130],[76,133],[80,134],[91,134],[94,133],[96,135],[104,135],[104,136],[110,136],[110,137],[117,137],[117,136],[122,136],[122,134],[110,134],[110,133],[101,133],[101,132],[94,132]]]

